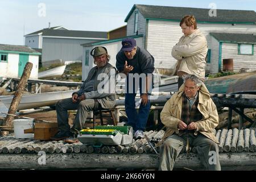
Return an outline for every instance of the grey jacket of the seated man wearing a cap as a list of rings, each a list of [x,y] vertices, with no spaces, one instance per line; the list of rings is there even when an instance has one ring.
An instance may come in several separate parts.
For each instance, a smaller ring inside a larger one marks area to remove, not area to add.
[[[92,77],[95,72],[97,73],[97,75],[94,79],[93,91],[85,92],[85,84],[86,82],[89,82],[90,80],[92,80]],[[101,73],[103,74],[100,75]],[[97,79],[98,77],[100,78],[100,80]],[[80,90],[77,92],[74,92],[73,94],[75,93],[77,93],[79,96],[84,94],[86,99],[97,99],[104,109],[109,109],[114,107],[115,105],[115,68],[113,67],[113,65],[107,63],[105,67],[97,68],[96,66],[90,69],[88,73],[88,77],[82,84]]]

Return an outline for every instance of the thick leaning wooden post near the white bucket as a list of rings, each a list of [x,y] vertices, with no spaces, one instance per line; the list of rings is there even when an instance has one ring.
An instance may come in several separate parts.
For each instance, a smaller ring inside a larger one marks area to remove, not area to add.
[[[23,91],[25,89],[26,83],[28,78],[30,77],[31,69],[32,69],[33,64],[28,62],[25,65],[24,71],[22,73],[22,77],[20,77],[16,92],[13,97],[13,101],[11,101],[11,105],[8,111],[8,114],[15,114],[17,111],[17,107],[19,105],[19,102],[22,98]],[[5,120],[3,121],[3,126],[13,126],[13,115],[7,115]],[[7,135],[7,131],[3,131],[1,133],[2,135]]]

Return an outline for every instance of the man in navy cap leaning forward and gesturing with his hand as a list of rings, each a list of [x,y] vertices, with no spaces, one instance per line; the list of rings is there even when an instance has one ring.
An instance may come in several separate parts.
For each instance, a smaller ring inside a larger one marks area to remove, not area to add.
[[[154,57],[145,49],[138,47],[135,39],[127,38],[122,41],[122,48],[117,53],[116,58],[116,67],[119,73],[126,76],[125,111],[128,118],[127,124],[133,127],[136,139],[143,138],[143,130],[146,127],[150,112],[148,92],[152,87],[152,73],[155,69]],[[141,94],[141,105],[137,114],[135,96],[138,86]]]

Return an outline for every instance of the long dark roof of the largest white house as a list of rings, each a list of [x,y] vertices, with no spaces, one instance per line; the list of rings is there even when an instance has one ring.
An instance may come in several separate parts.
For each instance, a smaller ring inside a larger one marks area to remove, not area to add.
[[[255,24],[256,13],[250,10],[221,10],[217,9],[217,16],[209,16],[210,9],[200,9],[191,7],[171,7],[134,5],[130,13],[126,16],[125,22],[135,9],[146,19],[164,19],[180,21],[183,16],[192,14],[199,23],[250,23]]]

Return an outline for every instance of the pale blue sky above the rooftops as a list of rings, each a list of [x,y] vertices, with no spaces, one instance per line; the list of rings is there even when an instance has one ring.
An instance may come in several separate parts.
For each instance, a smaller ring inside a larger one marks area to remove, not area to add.
[[[110,31],[124,26],[134,4],[254,10],[256,0],[0,0],[0,44],[24,45],[24,36],[51,27]]]

